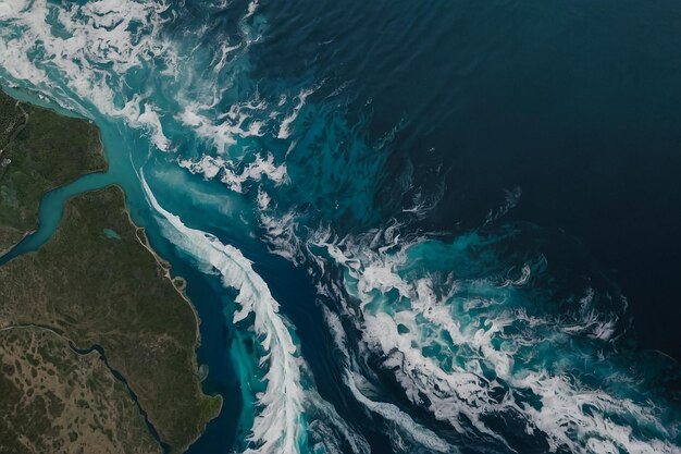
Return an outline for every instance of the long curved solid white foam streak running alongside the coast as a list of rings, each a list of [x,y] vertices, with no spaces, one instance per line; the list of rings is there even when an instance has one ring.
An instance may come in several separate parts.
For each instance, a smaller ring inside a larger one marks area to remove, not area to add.
[[[144,174],[141,183],[147,198],[160,214],[163,233],[177,247],[203,266],[216,270],[225,286],[236,289],[234,322],[253,316],[252,324],[268,364],[263,380],[267,388],[258,394],[260,410],[253,421],[246,453],[298,453],[304,435],[304,391],[300,384],[300,359],[293,338],[278,314],[278,303],[265,282],[252,269],[252,263],[235,247],[222,244],[215,236],[186,226],[182,220],[164,210],[149,188]]]

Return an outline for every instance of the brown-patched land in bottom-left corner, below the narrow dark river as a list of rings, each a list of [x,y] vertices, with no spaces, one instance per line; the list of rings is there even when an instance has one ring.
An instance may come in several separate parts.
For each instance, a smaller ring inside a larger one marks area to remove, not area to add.
[[[127,389],[99,354],[47,329],[0,331],[0,452],[160,453]]]

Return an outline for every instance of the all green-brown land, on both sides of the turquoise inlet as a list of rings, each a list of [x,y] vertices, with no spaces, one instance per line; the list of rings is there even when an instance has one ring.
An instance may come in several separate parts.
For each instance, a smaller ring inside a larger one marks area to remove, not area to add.
[[[89,122],[7,98],[0,251],[35,229],[45,191],[107,168]],[[120,187],[70,199],[0,282],[0,452],[182,452],[220,412],[200,388],[198,318]]]

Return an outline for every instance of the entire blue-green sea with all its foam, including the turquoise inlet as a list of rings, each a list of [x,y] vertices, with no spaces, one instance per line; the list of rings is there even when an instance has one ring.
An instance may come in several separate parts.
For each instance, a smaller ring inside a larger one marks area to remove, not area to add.
[[[681,4],[0,0],[187,279],[193,454],[680,453]],[[677,359],[674,359],[677,358]]]

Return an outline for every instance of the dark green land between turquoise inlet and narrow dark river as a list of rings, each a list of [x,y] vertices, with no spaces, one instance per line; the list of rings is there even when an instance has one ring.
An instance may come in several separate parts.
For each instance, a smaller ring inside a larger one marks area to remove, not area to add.
[[[218,415],[221,400],[201,393],[197,318],[143,246],[144,231],[124,201],[117,186],[73,198],[45,246],[0,268],[0,328],[35,323],[78,348],[101,345],[161,439],[181,451]]]

